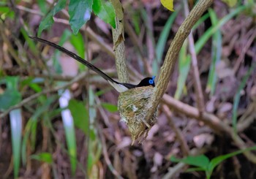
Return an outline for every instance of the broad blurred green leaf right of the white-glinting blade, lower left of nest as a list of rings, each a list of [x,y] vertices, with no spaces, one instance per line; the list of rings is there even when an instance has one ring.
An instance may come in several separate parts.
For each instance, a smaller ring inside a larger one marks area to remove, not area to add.
[[[89,113],[83,102],[70,99],[68,108],[74,119],[75,126],[81,129],[84,134],[89,135]]]

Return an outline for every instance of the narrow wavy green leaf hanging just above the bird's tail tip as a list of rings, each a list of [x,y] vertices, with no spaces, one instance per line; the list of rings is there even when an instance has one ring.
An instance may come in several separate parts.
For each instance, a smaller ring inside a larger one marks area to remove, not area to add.
[[[46,15],[46,17],[42,20],[42,22],[39,25],[37,36],[40,36],[42,34],[42,31],[45,29],[50,28],[50,26],[53,26],[53,16],[56,15],[57,12],[61,11],[61,9],[64,9],[66,5],[66,0],[59,0],[55,7]]]

